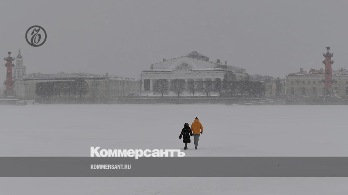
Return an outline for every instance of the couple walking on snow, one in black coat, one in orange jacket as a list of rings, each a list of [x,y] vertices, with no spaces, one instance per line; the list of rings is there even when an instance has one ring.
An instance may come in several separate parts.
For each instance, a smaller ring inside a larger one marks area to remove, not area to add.
[[[195,143],[195,149],[198,148],[198,140],[200,134],[203,133],[203,126],[199,122],[198,118],[196,117],[195,120],[191,124],[191,128],[189,127],[189,124],[185,123],[184,128],[181,130],[181,134],[179,135],[179,139],[182,137],[182,143],[185,143],[184,150],[187,149],[187,143],[191,143],[190,136],[193,135],[194,143]]]

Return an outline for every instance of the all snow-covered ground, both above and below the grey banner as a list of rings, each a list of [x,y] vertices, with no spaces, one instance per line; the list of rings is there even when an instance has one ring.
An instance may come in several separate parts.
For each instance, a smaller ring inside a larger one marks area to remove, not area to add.
[[[192,150],[191,143],[187,156],[347,156],[347,106],[29,104],[0,108],[0,156],[89,156],[90,146],[181,149],[181,128],[195,117],[204,133],[199,150]],[[0,194],[343,194],[347,181],[0,178],[0,189],[5,192]]]

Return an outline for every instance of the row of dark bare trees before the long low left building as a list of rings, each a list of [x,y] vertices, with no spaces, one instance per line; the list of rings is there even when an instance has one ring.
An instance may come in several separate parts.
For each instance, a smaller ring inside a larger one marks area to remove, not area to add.
[[[89,92],[88,83],[84,79],[74,81],[53,81],[40,82],[35,85],[35,93],[43,98],[50,98],[54,95],[61,97],[62,94],[69,95],[86,95]]]

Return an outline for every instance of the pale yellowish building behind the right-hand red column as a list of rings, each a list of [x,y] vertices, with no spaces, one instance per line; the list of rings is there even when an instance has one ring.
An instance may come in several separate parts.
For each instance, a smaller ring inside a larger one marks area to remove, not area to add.
[[[325,70],[301,68],[297,73],[289,73],[286,78],[288,97],[322,96],[325,88]],[[332,89],[335,96],[348,96],[348,70],[332,70]]]

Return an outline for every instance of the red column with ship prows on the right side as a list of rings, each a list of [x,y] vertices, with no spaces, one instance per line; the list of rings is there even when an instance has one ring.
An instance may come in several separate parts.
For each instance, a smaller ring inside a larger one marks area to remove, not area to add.
[[[327,52],[323,54],[325,60],[322,62],[325,64],[325,80],[322,79],[322,82],[325,83],[325,88],[323,91],[323,95],[331,96],[333,95],[332,83],[335,82],[335,79],[332,79],[332,64],[334,63],[331,58],[333,57],[333,53],[330,53],[330,47],[326,47]]]

